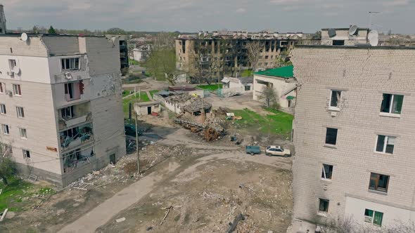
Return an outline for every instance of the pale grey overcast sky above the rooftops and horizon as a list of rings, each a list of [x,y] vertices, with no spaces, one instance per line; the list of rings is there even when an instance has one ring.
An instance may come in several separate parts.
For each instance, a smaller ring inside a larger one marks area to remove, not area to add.
[[[136,31],[316,32],[369,25],[415,33],[415,0],[3,0],[9,29],[33,25]]]

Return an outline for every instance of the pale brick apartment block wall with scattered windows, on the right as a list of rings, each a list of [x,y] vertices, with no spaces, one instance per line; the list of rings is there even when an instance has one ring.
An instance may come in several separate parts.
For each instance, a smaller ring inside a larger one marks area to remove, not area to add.
[[[415,48],[298,46],[293,232],[415,221]]]

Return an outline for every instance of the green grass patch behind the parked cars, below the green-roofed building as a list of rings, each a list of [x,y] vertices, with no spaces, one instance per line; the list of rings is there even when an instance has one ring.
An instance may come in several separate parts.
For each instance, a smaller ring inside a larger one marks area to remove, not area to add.
[[[275,109],[266,109],[270,114],[262,116],[250,109],[233,110],[236,116],[242,116],[236,120],[238,128],[256,129],[261,133],[281,135],[289,138],[293,127],[294,116]]]

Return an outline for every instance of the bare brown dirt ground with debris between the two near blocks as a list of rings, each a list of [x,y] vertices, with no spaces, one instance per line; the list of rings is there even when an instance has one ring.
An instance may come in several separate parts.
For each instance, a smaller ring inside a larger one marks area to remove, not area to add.
[[[87,191],[68,187],[50,197],[27,200],[29,211],[1,222],[0,232],[58,232],[84,218],[93,219],[87,213],[151,175],[158,179],[151,181],[147,194],[131,199],[132,205],[120,212],[113,203],[108,221],[91,221],[92,230],[82,232],[226,232],[239,213],[245,220],[235,232],[286,232],[292,213],[291,158],[251,157],[243,145],[230,142],[229,135],[204,142],[172,124],[167,114],[143,121],[152,128],[140,137],[141,175],[136,173],[136,154],[127,155],[115,166],[85,176],[83,182],[92,184]],[[258,145],[272,141],[238,137],[245,138],[244,143],[259,140]],[[120,218],[125,220],[117,222]]]

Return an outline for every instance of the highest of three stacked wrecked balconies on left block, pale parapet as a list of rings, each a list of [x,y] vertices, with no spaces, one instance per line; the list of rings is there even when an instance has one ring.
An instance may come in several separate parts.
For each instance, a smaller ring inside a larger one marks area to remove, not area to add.
[[[91,120],[90,102],[58,109],[59,130],[70,128]]]

